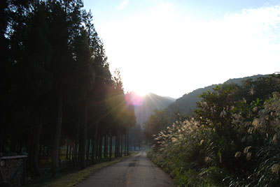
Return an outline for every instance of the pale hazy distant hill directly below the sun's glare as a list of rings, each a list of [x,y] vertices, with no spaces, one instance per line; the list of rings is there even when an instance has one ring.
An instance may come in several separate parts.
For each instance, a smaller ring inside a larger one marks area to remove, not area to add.
[[[149,117],[151,117],[151,114],[153,114],[155,109],[162,110],[174,101],[174,98],[158,96],[155,93],[148,93],[143,98],[143,105],[134,107],[137,124],[140,124],[143,128],[144,123]]]

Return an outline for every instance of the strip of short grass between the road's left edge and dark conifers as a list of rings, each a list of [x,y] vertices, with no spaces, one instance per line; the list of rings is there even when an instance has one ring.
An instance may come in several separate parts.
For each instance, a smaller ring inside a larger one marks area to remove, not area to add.
[[[137,154],[136,152],[130,154],[130,156],[133,156]],[[37,187],[37,186],[44,186],[44,187],[70,187],[75,186],[76,184],[80,183],[84,179],[87,179],[87,177],[90,176],[93,172],[96,172],[103,167],[113,165],[114,163],[118,163],[122,160],[125,160],[125,158],[129,158],[130,156],[123,156],[119,158],[114,158],[111,161],[105,161],[102,163],[97,163],[95,165],[91,165],[85,170],[71,170],[69,172],[62,172],[62,174],[59,175],[59,177],[52,179],[51,174],[43,174],[41,177],[37,177],[34,179],[34,181],[28,182],[27,187]]]

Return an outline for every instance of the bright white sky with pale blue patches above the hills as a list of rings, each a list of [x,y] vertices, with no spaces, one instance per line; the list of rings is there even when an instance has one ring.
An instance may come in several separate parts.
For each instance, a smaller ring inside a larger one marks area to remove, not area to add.
[[[280,1],[84,0],[125,91],[179,98],[280,71]]]

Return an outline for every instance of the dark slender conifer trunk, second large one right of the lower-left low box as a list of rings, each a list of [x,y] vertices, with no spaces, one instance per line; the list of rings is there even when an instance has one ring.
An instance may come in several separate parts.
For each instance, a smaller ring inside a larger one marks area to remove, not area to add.
[[[55,128],[54,143],[52,147],[52,177],[57,177],[58,159],[59,159],[59,141],[62,129],[62,85],[59,85],[59,100],[58,100],[58,114],[57,114],[57,127]]]

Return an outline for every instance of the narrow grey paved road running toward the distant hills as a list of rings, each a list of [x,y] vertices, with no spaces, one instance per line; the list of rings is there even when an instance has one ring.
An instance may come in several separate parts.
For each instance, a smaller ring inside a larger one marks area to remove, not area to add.
[[[168,174],[146,157],[146,152],[94,172],[78,187],[165,187],[175,186]]]

